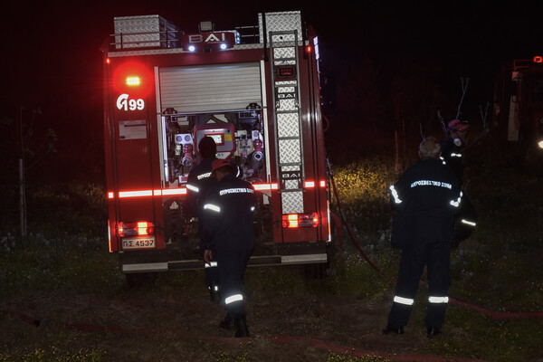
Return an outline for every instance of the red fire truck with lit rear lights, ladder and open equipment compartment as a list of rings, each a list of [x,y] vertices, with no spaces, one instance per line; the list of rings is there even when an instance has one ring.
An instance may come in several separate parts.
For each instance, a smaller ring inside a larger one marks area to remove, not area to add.
[[[159,15],[114,19],[103,49],[109,236],[128,278],[204,267],[184,202],[205,136],[259,194],[249,265],[328,262],[318,38],[299,11],[257,21],[185,33]]]

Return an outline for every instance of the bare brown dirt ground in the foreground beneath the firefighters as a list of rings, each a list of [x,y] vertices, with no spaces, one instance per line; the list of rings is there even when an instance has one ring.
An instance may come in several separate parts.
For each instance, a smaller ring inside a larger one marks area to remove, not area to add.
[[[39,348],[57,354],[95,348],[106,361],[327,361],[330,352],[398,361],[470,360],[424,352],[434,341],[425,337],[422,320],[413,320],[404,336],[382,335],[388,297],[259,291],[247,301],[252,337],[233,338],[218,328],[224,308],[196,284],[125,286],[110,295],[42,291],[1,296],[0,356]]]

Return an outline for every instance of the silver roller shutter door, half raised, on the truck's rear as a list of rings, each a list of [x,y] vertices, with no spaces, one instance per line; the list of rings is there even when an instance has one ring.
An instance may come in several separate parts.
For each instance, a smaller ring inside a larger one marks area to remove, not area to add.
[[[160,106],[178,113],[245,110],[262,106],[258,62],[159,69]]]

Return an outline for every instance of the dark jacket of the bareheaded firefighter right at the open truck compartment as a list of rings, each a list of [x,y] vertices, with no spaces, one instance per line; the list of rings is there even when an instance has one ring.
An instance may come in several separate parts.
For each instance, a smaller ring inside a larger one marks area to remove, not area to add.
[[[207,192],[214,186],[211,178],[211,164],[216,157],[204,158],[198,165],[192,167],[186,179],[186,214],[200,217],[202,203]]]

